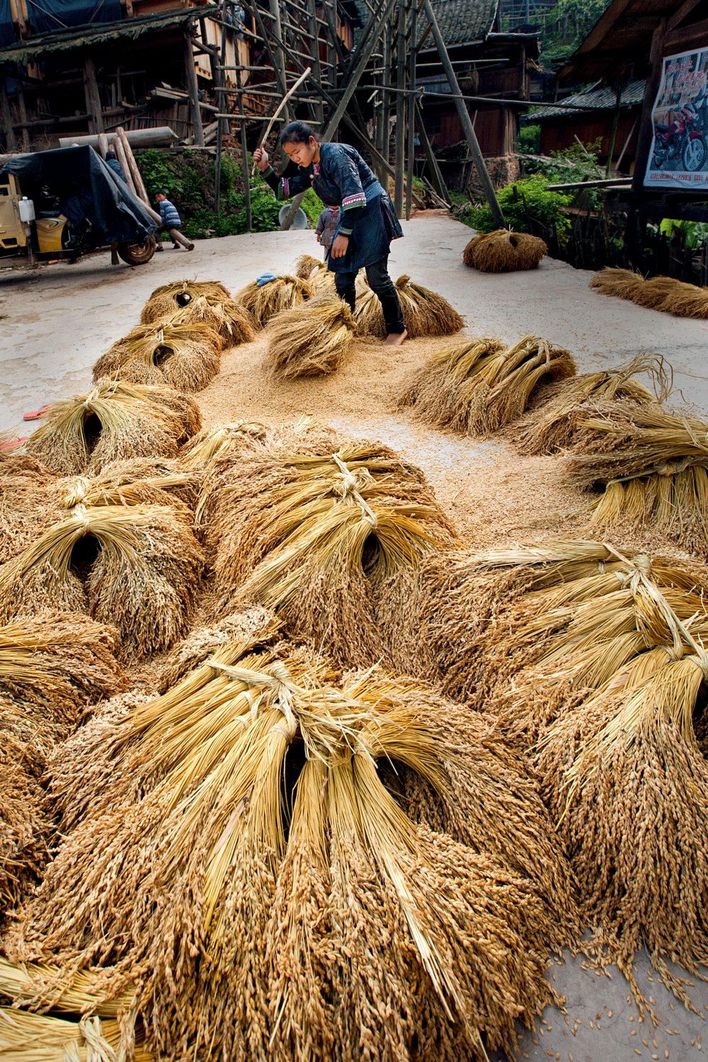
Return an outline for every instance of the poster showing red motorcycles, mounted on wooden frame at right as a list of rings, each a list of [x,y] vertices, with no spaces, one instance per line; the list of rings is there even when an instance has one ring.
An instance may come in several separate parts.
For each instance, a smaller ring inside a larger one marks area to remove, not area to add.
[[[708,48],[663,59],[644,186],[708,189]]]

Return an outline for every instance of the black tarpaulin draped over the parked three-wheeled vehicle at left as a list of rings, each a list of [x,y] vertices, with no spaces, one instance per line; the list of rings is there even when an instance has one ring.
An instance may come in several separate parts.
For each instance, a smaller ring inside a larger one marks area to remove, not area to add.
[[[76,213],[90,222],[94,246],[106,243],[142,243],[157,225],[144,203],[89,147],[57,148],[33,155],[18,155],[0,166],[13,173],[28,199],[40,198],[47,186],[59,199],[67,217]]]

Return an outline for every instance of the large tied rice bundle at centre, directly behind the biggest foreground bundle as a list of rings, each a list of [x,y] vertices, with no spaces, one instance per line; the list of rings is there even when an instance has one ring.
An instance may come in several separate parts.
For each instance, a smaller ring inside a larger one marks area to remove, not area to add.
[[[419,469],[379,444],[257,451],[220,495],[217,614],[260,603],[353,666],[384,650],[377,597],[415,583],[422,558],[453,542]]]

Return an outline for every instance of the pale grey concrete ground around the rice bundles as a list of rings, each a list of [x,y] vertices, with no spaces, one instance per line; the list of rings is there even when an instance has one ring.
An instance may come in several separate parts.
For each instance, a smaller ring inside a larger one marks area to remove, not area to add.
[[[468,270],[462,251],[470,230],[435,211],[403,223],[403,228],[405,239],[392,247],[394,278],[410,273],[439,291],[465,315],[469,332],[508,341],[528,332],[545,336],[573,353],[580,372],[618,365],[636,354],[662,355],[673,367],[679,400],[708,414],[708,322],[606,298],[588,289],[590,273],[550,259],[537,271],[506,276]],[[266,233],[197,242],[191,254],[169,249],[140,269],[113,268],[107,254],[34,272],[0,268],[0,430],[28,434],[32,425],[22,425],[25,410],[87,390],[92,363],[137,324],[143,302],[157,285],[186,276],[219,279],[236,290],[265,270],[287,271],[299,254],[317,251],[311,232]],[[227,399],[231,378],[225,372],[210,390]],[[376,400],[377,380],[359,387],[344,371],[343,379],[344,389],[356,391],[353,401],[347,394],[342,408],[333,404],[330,423],[357,427],[361,434],[401,450],[424,468],[436,490],[442,470],[456,470],[470,459],[491,467],[503,446],[413,429],[405,416],[386,413]],[[267,397],[273,404],[280,394]],[[234,415],[248,416],[249,411],[234,410]],[[551,965],[549,977],[566,996],[565,1013],[549,1008],[535,1034],[520,1035],[515,1057],[533,1062],[703,1058],[701,1038],[704,1029],[708,1032],[703,1017],[674,999],[643,956],[638,957],[637,976],[645,995],[656,1001],[657,1028],[649,1018],[640,1022],[617,970],[598,972],[570,957]],[[697,981],[689,992],[696,1009],[708,1011],[706,984]]]

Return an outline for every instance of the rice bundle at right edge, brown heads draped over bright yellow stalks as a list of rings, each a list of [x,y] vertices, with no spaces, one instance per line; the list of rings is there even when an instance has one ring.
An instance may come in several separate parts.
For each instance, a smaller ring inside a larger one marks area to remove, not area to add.
[[[604,487],[592,524],[649,525],[687,550],[708,551],[708,425],[658,405],[615,402],[579,421],[564,468]]]

